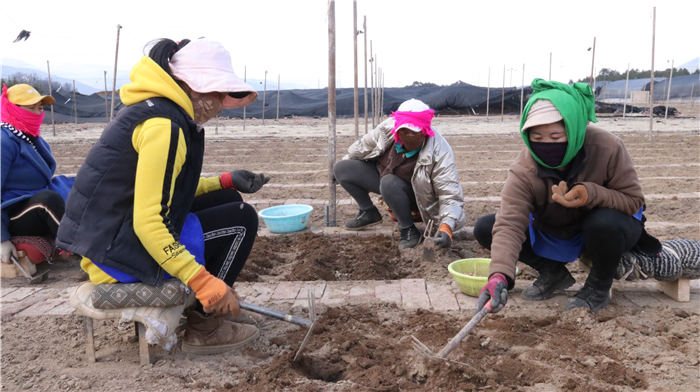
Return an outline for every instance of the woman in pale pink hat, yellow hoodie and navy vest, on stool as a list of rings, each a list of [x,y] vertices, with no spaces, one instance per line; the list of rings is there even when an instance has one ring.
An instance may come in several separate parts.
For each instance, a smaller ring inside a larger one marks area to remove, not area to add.
[[[200,178],[201,125],[257,93],[236,76],[228,51],[205,38],[158,40],[130,79],[119,93],[126,107],[78,171],[58,245],[84,256],[95,284],[158,286],[172,276],[191,287],[199,302],[187,313],[183,351],[245,345],[262,317],[240,310],[232,288],[258,229],[239,192],[256,192],[269,178],[244,170]],[[203,260],[181,241],[196,232]]]

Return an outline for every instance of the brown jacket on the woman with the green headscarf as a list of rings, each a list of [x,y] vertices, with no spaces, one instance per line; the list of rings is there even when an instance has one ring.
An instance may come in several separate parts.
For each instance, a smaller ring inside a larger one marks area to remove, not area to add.
[[[573,232],[580,232],[583,219],[593,208],[614,208],[631,216],[642,207],[642,186],[620,138],[589,125],[583,150],[585,158],[579,162],[578,173],[567,179],[569,189],[574,184],[582,184],[588,191],[586,204],[575,209],[552,201],[552,185],[560,180],[542,177],[546,170],[541,166],[538,176],[538,165],[527,147],[518,154],[501,192],[501,207],[493,226],[489,276],[502,273],[511,282],[515,281],[515,265],[526,239],[531,213],[535,216],[537,224],[533,225],[536,228],[567,238]]]

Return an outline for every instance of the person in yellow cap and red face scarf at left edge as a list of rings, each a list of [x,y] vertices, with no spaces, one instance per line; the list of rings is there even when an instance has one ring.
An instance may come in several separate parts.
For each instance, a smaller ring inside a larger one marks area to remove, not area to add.
[[[3,263],[12,263],[10,255],[17,257],[17,249],[27,251],[34,263],[53,254],[65,198],[73,184],[73,178],[54,177],[56,160],[39,129],[44,121],[44,105],[54,103],[56,100],[51,96],[39,94],[28,84],[2,88]],[[13,243],[12,237],[43,237],[46,241],[34,243],[26,238],[17,242],[17,238]]]

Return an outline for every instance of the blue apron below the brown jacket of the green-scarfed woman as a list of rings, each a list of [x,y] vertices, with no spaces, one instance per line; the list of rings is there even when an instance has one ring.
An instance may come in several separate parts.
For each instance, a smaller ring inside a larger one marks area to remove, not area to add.
[[[644,206],[633,215],[638,221],[642,220]],[[544,233],[532,227],[534,217],[530,214],[530,245],[536,255],[562,263],[570,263],[578,259],[583,252],[583,233],[576,234],[569,240],[563,240],[551,234]]]

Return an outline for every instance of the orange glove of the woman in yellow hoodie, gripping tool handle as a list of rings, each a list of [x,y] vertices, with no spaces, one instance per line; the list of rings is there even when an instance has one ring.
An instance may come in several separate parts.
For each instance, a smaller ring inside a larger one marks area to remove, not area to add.
[[[241,297],[223,280],[210,274],[204,267],[190,279],[190,287],[207,313],[231,313],[238,316]]]

